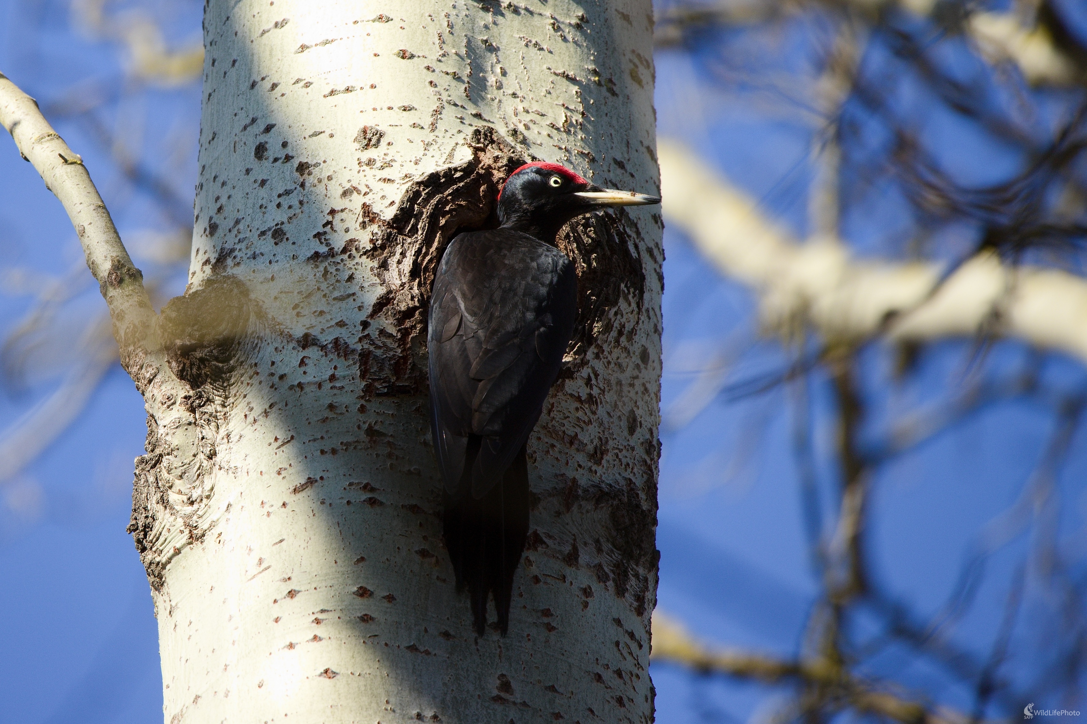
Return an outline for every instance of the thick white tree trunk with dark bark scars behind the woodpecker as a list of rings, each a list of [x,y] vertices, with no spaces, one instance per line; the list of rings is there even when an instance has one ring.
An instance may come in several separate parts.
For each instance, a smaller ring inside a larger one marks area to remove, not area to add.
[[[190,283],[170,369],[126,361],[166,722],[652,721],[660,216],[560,241],[504,638],[453,589],[425,377],[437,262],[513,168],[657,191],[651,41],[649,0],[205,4]]]

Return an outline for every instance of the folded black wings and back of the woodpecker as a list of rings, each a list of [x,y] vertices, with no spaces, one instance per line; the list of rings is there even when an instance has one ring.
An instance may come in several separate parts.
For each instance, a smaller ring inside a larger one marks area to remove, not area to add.
[[[502,478],[539,418],[577,315],[577,279],[559,250],[520,231],[459,234],[442,257],[429,316],[432,429],[447,490],[470,435],[482,437],[472,495]]]

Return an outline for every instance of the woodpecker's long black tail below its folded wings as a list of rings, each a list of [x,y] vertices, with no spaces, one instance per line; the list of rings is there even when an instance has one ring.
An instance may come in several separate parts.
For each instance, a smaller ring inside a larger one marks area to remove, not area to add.
[[[498,625],[510,626],[513,575],[528,538],[528,463],[524,446],[482,498],[472,496],[472,466],[480,439],[468,437],[464,472],[455,494],[445,492],[443,534],[457,574],[457,589],[468,589],[476,633],[487,625],[487,600],[495,595]]]

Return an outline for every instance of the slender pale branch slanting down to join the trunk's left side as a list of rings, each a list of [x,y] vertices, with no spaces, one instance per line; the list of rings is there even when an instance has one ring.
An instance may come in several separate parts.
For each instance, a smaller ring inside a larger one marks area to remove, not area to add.
[[[67,212],[87,256],[87,266],[110,308],[122,364],[142,390],[162,367],[154,309],[143,289],[143,276],[121,242],[83,158],[53,130],[37,102],[3,74],[0,74],[0,124]]]

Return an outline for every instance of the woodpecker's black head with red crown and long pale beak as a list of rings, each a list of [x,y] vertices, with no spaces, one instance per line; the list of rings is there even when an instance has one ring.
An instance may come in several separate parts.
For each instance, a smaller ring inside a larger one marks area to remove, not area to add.
[[[498,194],[498,220],[503,229],[524,231],[553,244],[559,229],[575,216],[603,206],[659,203],[660,196],[601,189],[559,164],[537,161],[505,180]]]

